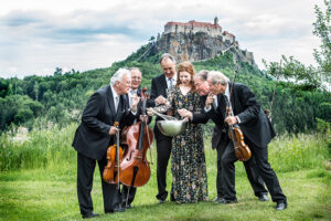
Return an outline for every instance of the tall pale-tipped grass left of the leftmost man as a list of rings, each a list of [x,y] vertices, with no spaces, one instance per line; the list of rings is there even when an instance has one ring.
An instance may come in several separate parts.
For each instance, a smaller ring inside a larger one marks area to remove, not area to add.
[[[71,147],[77,125],[35,129],[20,138],[11,133],[0,140],[0,170],[45,168],[68,164],[76,152]]]

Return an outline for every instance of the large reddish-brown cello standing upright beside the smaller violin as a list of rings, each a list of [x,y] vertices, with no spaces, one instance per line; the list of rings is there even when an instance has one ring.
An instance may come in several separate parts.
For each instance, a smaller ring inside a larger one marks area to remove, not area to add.
[[[142,88],[142,115],[146,115],[146,87]],[[152,143],[153,133],[145,120],[126,127],[122,131],[124,144],[128,146],[120,162],[120,181],[128,187],[141,187],[150,178],[150,166],[147,150]]]

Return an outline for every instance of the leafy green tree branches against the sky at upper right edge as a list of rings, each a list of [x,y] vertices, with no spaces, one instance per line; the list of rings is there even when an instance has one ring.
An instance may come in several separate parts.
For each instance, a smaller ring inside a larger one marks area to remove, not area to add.
[[[313,22],[313,34],[320,38],[320,50],[314,49],[313,56],[318,66],[306,66],[293,56],[282,55],[284,64],[263,60],[268,73],[274,77],[290,80],[297,83],[300,90],[313,91],[317,88],[331,90],[331,3],[324,0],[325,12],[318,6],[314,7],[317,15]]]

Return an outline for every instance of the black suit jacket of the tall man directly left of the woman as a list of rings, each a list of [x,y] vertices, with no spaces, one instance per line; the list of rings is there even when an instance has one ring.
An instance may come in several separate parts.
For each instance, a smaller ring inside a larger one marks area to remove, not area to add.
[[[166,80],[166,75],[164,74],[160,74],[156,77],[152,78],[152,83],[151,83],[151,92],[150,92],[150,101],[148,103],[148,106],[154,107],[156,106],[156,98],[160,95],[162,95],[163,97],[167,98],[167,80]],[[158,120],[162,120],[161,117],[157,117],[156,122]],[[154,131],[154,136],[157,140],[162,140],[162,139],[171,139],[171,137],[164,136],[161,134],[161,131],[159,130],[157,124],[154,125],[153,128]]]

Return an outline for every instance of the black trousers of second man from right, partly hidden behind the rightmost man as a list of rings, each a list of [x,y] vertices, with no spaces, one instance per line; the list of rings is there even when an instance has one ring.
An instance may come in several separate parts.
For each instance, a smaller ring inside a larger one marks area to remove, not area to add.
[[[217,177],[216,177],[216,189],[217,189],[217,197],[224,198],[224,188],[223,188],[223,178],[222,178],[222,155],[224,154],[224,150],[226,149],[226,146],[231,141],[227,136],[221,140],[221,144],[217,146]],[[255,161],[254,156],[246,162],[244,162],[246,175],[248,178],[248,181],[254,190],[254,193],[256,197],[259,197],[263,193],[268,193],[268,191],[265,188],[264,180],[258,173],[258,167]],[[235,196],[235,192],[234,192]]]

